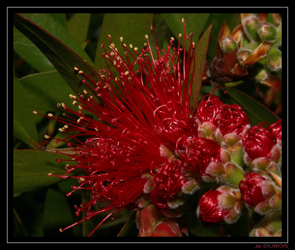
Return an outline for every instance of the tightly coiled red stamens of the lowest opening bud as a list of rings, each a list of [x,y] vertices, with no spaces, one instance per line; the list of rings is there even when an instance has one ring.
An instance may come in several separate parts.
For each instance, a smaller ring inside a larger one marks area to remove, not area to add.
[[[199,200],[198,216],[203,225],[221,223],[230,211],[222,210],[218,204],[219,190],[207,191]]]

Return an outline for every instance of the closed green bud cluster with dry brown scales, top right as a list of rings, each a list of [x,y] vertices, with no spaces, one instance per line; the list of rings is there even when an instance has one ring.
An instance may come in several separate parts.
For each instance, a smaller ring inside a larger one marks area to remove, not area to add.
[[[224,22],[219,30],[217,56],[204,81],[213,85],[256,79],[275,90],[282,69],[282,20],[279,14],[241,14],[241,24],[231,33]],[[274,73],[274,74],[273,74]]]

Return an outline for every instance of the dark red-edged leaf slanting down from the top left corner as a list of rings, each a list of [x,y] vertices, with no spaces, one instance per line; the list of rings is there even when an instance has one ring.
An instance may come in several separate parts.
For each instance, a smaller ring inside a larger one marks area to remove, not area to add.
[[[83,93],[83,90],[86,89],[89,94],[93,96],[96,103],[101,103],[101,100],[97,97],[97,93],[95,93],[88,85],[81,83],[82,79],[85,79],[85,77],[78,74],[78,70],[74,70],[74,67],[77,67],[94,82],[101,80],[99,74],[91,67],[90,64],[92,63],[86,52],[81,48],[78,51],[83,58],[86,60],[89,59],[88,62],[90,64],[86,63],[85,60],[60,40],[22,15],[14,14],[13,24],[25,36],[27,36],[44,55],[46,55],[65,82],[68,83],[77,95],[78,93]]]

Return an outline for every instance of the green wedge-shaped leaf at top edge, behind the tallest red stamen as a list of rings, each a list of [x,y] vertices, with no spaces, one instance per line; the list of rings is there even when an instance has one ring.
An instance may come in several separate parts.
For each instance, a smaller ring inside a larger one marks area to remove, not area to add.
[[[181,20],[185,19],[186,34],[193,33],[195,43],[198,42],[199,36],[204,29],[204,25],[207,22],[209,13],[161,13],[168,27],[171,29],[175,37],[178,37],[179,33],[183,33],[183,23]],[[183,46],[183,40],[180,41]]]

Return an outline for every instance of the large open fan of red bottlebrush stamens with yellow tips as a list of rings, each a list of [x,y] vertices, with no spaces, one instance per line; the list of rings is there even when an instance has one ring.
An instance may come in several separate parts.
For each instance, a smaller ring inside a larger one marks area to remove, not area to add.
[[[75,169],[86,172],[83,177],[73,177],[79,180],[79,186],[73,187],[73,191],[91,191],[91,200],[82,203],[81,208],[76,206],[77,215],[83,210],[87,211],[83,220],[106,211],[110,214],[103,221],[111,216],[114,219],[127,205],[136,206],[135,200],[143,193],[150,192],[150,188],[145,187],[150,183],[154,186],[150,194],[152,203],[158,208],[165,208],[186,182],[181,175],[182,165],[175,148],[179,137],[198,135],[196,121],[188,108],[190,92],[187,89],[190,88],[186,87],[192,84],[192,80],[188,82],[188,76],[191,68],[194,68],[195,46],[192,36],[184,34],[185,46],[189,43],[189,49],[183,53],[182,66],[183,49],[179,42],[178,47],[173,45],[173,38],[167,50],[160,50],[157,46],[156,57],[151,52],[149,40],[140,52],[130,45],[137,55],[132,64],[132,53],[122,38],[124,56],[117,52],[109,36],[111,51],[105,50],[103,58],[108,69],[110,64],[114,66],[119,77],[114,77],[106,70],[99,70],[101,81],[96,83],[74,68],[85,77],[82,83],[92,88],[101,97],[103,104],[96,103],[84,91],[78,94],[78,98],[70,95],[74,99],[72,104],[79,108],[78,112],[64,103],[58,104],[65,112],[79,119],[66,113],[65,117],[49,116],[65,124],[60,131],[68,135],[65,139],[56,139],[56,143],[73,141],[68,146],[74,149],[75,155],[69,161],[63,178]],[[139,68],[136,72],[135,64]],[[83,111],[94,114],[98,119],[89,118]],[[73,135],[71,131],[80,134]],[[171,150],[172,157],[166,157],[162,152],[163,145],[167,144],[174,148]],[[154,178],[154,182],[147,180],[148,175]],[[93,210],[94,204],[98,204],[100,210]]]

